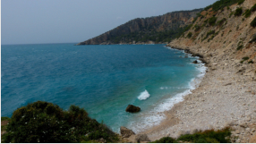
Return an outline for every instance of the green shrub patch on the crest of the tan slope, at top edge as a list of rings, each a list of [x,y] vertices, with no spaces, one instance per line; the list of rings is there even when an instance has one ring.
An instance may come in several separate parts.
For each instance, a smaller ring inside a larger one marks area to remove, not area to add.
[[[232,4],[236,4],[236,3],[243,4],[242,1],[244,0],[218,0],[214,4],[210,4],[209,6],[204,8],[204,10],[209,10],[210,8],[212,8],[213,11],[217,12],[218,10],[221,10],[224,7],[230,6]]]

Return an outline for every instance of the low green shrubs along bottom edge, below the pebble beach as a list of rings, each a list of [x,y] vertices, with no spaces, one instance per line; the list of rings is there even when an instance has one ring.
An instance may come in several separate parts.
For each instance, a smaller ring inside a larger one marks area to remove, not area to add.
[[[153,141],[152,143],[179,143],[179,142],[192,142],[192,143],[230,143],[229,137],[231,131],[229,128],[214,131],[199,131],[194,134],[185,134],[180,136],[178,139],[170,137],[164,137],[160,140]]]

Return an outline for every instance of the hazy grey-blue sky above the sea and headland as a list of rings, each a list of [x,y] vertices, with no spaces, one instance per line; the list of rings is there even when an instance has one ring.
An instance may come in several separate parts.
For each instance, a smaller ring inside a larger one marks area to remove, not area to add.
[[[1,0],[1,45],[78,43],[135,18],[217,0]]]

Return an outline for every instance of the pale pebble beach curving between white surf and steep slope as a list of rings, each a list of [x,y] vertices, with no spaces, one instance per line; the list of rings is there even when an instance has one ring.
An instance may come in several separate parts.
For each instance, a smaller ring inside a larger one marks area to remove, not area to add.
[[[245,68],[251,71],[241,74],[237,60],[228,59],[216,64],[216,57],[221,55],[212,56],[194,47],[177,46],[175,42],[166,47],[199,56],[209,69],[191,94],[164,112],[166,119],[162,123],[141,133],[146,133],[150,140],[158,140],[166,136],[177,138],[193,131],[218,130],[232,124],[239,126],[256,122],[256,89],[253,89],[256,80],[252,65]]]

